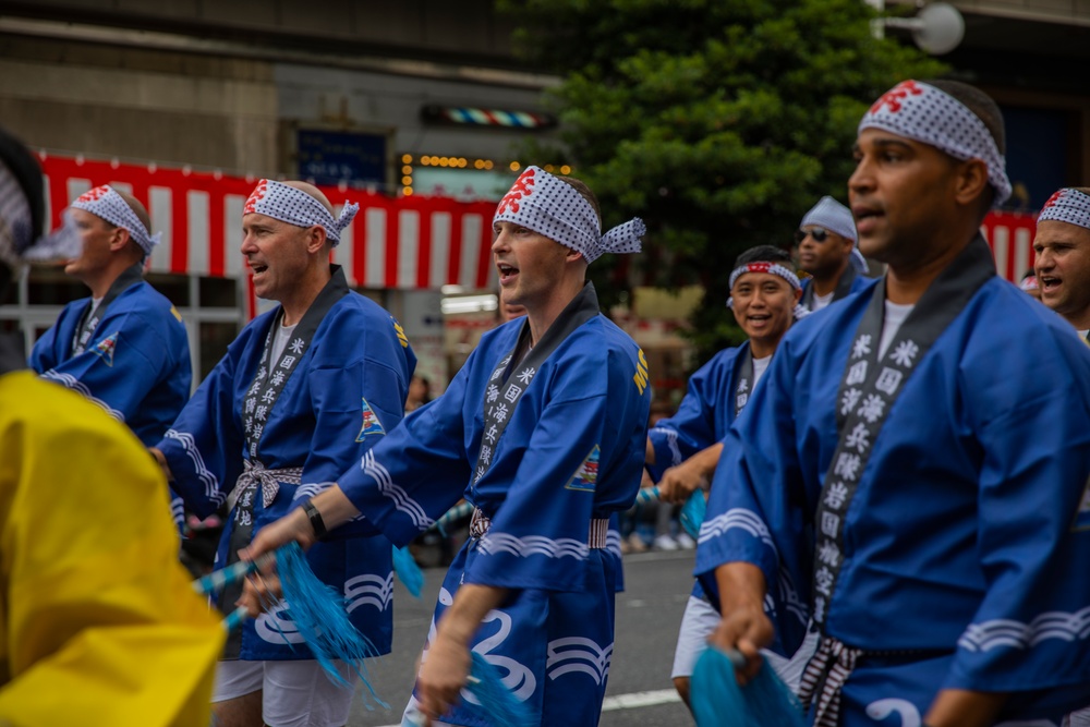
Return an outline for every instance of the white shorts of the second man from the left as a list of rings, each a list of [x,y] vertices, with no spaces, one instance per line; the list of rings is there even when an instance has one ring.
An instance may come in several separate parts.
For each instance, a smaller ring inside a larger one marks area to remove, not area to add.
[[[269,727],[343,727],[360,680],[351,666],[337,662],[351,688],[335,684],[315,661],[220,662],[211,701],[262,692],[262,714]]]

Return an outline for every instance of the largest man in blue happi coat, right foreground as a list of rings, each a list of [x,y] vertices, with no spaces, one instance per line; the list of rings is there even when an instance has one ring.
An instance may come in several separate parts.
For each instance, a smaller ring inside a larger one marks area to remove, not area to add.
[[[750,678],[809,615],[821,727],[1043,727],[1090,690],[1090,350],[995,275],[1003,148],[965,84],[871,107],[848,192],[888,272],[788,332],[716,468],[713,643]]]

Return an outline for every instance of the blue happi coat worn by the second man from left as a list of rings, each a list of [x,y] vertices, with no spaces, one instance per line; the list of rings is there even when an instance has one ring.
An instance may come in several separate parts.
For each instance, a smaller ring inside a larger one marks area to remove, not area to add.
[[[174,475],[174,488],[204,517],[226,500],[250,459],[241,412],[279,306],[247,325],[227,355],[197,388],[166,438],[158,444]],[[326,313],[265,423],[259,458],[267,469],[301,467],[302,485],[280,483],[268,508],[253,506],[256,533],[337,480],[401,421],[416,358],[401,327],[382,307],[356,293]],[[228,518],[217,564],[233,557],[235,511]],[[392,567],[382,536],[330,540],[307,550],[315,574],[342,593],[352,622],[380,653],[390,650]],[[233,599],[221,597],[230,611]],[[286,643],[286,638],[292,643]],[[286,609],[246,620],[243,659],[313,658]],[[232,657],[228,642],[228,657]]]

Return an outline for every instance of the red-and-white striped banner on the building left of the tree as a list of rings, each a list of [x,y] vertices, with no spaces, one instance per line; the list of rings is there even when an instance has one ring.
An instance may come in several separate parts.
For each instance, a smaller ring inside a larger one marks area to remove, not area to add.
[[[45,154],[39,158],[53,227],[72,199],[99,184],[110,184],[144,203],[152,216],[152,232],[162,232],[152,254],[153,271],[227,278],[245,274],[240,252],[242,207],[255,179],[154,163],[145,167]],[[390,198],[361,190],[320,189],[338,214],[346,202],[360,204],[360,214],[334,249],[334,262],[344,267],[349,284],[408,290],[445,284],[495,287],[491,252],[495,203]]]

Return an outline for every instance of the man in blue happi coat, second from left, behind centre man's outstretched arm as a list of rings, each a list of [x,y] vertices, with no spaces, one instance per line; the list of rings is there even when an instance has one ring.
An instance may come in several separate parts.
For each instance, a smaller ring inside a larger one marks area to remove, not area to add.
[[[359,205],[340,217],[303,182],[262,180],[243,208],[242,254],[258,296],[279,302],[247,325],[153,448],[177,492],[199,516],[230,516],[220,567],[268,523],[359,462],[401,421],[416,358],[400,325],[352,292],[334,245]],[[307,560],[346,599],[378,653],[392,632],[390,544],[382,536],[319,543]],[[218,605],[234,609],[240,587]],[[353,671],[340,665],[352,680]],[[221,727],[340,727],[351,689],[322,667],[280,604],[228,640],[213,696]]]

